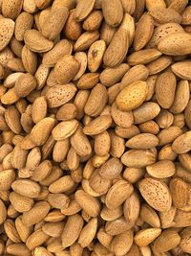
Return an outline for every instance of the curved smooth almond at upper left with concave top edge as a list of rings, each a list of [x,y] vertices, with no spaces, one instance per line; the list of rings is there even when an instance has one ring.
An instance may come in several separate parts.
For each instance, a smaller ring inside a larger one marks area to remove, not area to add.
[[[27,47],[35,53],[49,52],[53,48],[53,42],[45,38],[37,30],[27,30],[24,35]]]

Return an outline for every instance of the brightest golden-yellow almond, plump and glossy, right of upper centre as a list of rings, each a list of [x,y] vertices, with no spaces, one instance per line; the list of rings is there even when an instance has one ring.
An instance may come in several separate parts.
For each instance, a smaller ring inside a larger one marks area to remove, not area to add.
[[[123,88],[117,96],[117,106],[129,111],[141,105],[147,95],[148,86],[145,81],[135,81]]]

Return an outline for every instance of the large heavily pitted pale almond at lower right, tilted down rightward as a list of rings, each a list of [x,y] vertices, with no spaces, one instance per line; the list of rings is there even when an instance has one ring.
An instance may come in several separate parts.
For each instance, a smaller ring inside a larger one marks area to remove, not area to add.
[[[168,211],[172,198],[167,185],[154,178],[144,178],[139,182],[141,196],[159,212]],[[157,195],[157,196],[156,196]]]

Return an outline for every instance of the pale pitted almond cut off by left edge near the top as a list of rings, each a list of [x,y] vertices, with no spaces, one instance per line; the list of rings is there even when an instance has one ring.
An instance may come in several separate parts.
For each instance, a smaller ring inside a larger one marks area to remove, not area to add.
[[[11,41],[11,37],[14,32],[14,22],[10,18],[1,18],[0,28],[1,28],[0,51],[2,51]]]

